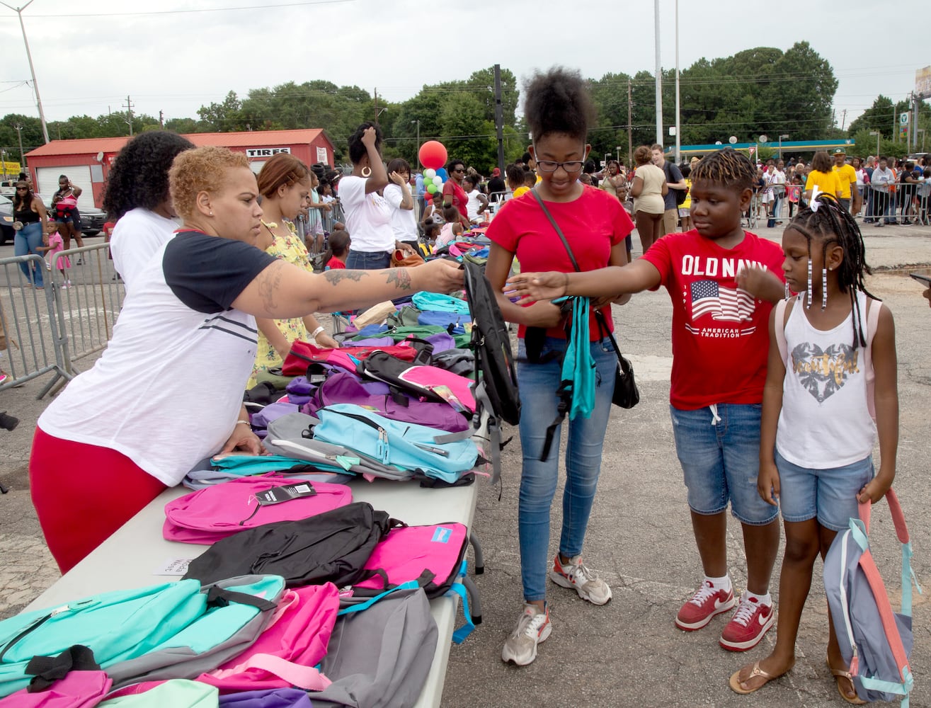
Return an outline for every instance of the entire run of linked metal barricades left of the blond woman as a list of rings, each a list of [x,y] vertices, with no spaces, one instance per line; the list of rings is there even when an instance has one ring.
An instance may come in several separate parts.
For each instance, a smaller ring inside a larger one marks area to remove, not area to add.
[[[42,399],[79,373],[76,361],[107,346],[124,296],[109,253],[101,243],[57,253],[52,263],[36,254],[0,259],[0,390],[54,373]]]

